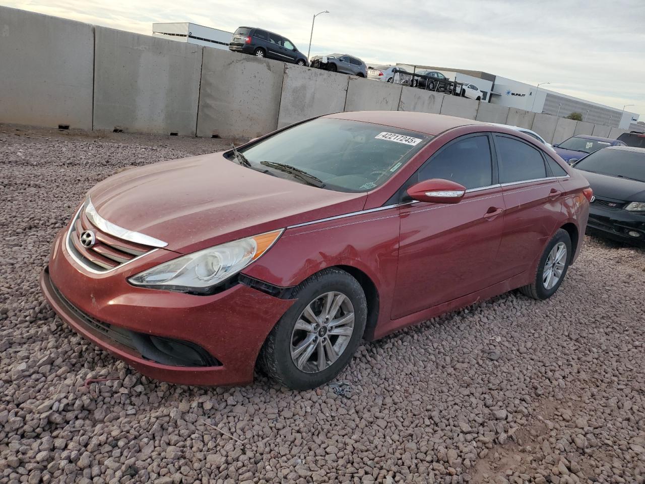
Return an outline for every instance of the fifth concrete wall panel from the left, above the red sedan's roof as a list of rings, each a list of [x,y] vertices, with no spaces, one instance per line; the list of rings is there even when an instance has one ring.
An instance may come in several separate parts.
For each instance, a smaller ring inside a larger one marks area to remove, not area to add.
[[[381,83],[350,77],[345,101],[346,111],[396,111],[401,99],[399,84]]]

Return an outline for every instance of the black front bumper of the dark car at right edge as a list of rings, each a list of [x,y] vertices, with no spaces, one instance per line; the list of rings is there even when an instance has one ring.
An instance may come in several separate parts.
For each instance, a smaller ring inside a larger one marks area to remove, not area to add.
[[[645,246],[645,214],[592,204],[587,227],[614,240]]]

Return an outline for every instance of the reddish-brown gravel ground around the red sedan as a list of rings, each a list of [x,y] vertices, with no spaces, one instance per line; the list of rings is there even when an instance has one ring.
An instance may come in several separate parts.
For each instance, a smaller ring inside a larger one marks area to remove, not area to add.
[[[644,481],[643,250],[587,237],[550,300],[364,344],[349,387],[168,385],[68,329],[37,278],[94,183],[227,143],[20,129],[0,125],[0,482]]]

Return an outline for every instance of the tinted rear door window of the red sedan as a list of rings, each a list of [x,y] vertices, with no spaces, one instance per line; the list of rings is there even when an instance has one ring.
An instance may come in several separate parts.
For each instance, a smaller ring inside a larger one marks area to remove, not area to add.
[[[546,177],[541,152],[519,139],[495,136],[499,183],[535,180]]]

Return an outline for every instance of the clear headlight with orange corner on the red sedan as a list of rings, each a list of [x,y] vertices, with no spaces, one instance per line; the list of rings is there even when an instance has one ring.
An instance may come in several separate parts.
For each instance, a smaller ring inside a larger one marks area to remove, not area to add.
[[[135,286],[206,294],[266,252],[284,229],[205,248],[130,277]]]

